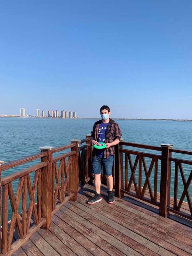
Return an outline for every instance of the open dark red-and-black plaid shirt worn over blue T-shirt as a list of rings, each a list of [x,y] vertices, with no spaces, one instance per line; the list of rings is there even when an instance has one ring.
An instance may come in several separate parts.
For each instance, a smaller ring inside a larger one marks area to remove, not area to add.
[[[93,130],[91,132],[91,137],[94,138],[94,140],[97,141],[98,138],[98,131],[99,131],[99,125],[102,123],[102,120],[99,120],[94,123]],[[109,118],[109,124],[106,129],[106,135],[105,135],[105,143],[112,143],[114,140],[120,140],[121,139],[121,130],[119,128],[119,125]],[[109,148],[104,148],[104,158],[107,158],[111,155],[115,155],[115,146],[111,146]],[[92,151],[92,157],[96,157],[96,151],[95,148],[93,148]]]

